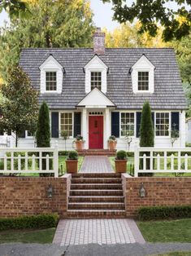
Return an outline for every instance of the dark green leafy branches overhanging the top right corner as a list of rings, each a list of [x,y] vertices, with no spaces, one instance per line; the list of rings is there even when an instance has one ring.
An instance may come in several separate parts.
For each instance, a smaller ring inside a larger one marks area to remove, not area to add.
[[[125,0],[102,0],[112,2],[114,20],[125,23],[137,19],[141,22],[139,33],[148,32],[154,37],[158,33],[158,26],[163,26],[163,40],[180,39],[190,32],[191,13],[190,0],[175,0],[177,9],[173,10],[169,0],[133,0],[129,4]],[[169,3],[169,4],[168,4]],[[177,16],[181,19],[177,19]]]

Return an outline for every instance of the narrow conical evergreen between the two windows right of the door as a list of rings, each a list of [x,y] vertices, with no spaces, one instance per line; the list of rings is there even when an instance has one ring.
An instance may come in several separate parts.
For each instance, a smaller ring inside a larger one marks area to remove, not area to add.
[[[154,147],[154,124],[148,101],[145,101],[142,108],[140,135],[140,147]]]

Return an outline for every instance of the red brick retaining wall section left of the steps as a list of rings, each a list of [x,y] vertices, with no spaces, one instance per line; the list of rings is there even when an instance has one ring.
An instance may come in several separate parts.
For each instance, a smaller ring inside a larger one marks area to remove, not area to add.
[[[58,213],[67,215],[67,197],[71,175],[64,178],[0,178],[0,217]],[[52,184],[53,197],[47,188]]]

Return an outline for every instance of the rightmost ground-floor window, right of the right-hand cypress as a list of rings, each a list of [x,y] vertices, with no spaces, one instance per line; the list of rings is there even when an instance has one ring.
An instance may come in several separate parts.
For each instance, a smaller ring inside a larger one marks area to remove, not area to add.
[[[169,136],[170,113],[155,113],[155,135]]]

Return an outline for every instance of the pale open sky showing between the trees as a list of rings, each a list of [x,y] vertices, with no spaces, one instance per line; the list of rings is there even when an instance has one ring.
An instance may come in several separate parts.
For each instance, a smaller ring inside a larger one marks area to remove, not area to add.
[[[94,13],[93,21],[97,27],[113,30],[119,25],[112,20],[113,11],[111,7],[111,3],[102,3],[102,0],[91,0],[91,8]],[[4,20],[8,20],[8,16],[5,11],[2,11],[0,14],[0,26],[2,26]]]

